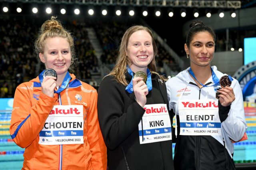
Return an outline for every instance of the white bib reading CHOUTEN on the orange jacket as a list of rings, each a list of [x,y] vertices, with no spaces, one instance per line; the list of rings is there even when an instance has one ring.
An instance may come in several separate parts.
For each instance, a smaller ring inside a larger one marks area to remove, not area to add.
[[[41,145],[84,143],[84,112],[82,105],[56,105],[39,133]]]

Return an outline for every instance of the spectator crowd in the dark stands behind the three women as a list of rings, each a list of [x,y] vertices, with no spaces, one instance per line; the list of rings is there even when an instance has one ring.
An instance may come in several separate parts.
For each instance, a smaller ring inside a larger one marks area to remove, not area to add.
[[[25,19],[25,17],[5,18],[4,16],[0,16],[0,19],[0,98],[12,98],[16,86],[35,78],[42,71],[40,68],[44,68],[39,66],[42,63],[38,61],[38,56],[34,53],[34,40],[43,21]],[[100,74],[100,68],[86,28],[93,27],[96,31],[104,52],[100,60],[103,65],[109,65],[111,70],[116,62],[122,35],[131,25],[115,21],[88,22],[90,25],[76,20],[62,22],[74,37],[78,61],[76,77],[97,88],[98,84],[92,79],[92,73]],[[235,49],[243,47],[243,38],[250,37],[251,34],[255,35],[255,30],[253,33],[230,31],[228,50],[231,47]],[[216,51],[225,51],[226,32],[217,32],[216,35]],[[163,68],[164,63],[172,70],[179,72],[180,68],[172,56],[161,47],[159,42],[156,41],[156,45],[158,47],[156,55],[158,72],[162,75],[166,74]]]

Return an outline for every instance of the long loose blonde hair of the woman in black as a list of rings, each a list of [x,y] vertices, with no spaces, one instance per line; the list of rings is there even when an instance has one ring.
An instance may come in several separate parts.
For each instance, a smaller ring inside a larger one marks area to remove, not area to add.
[[[135,26],[132,26],[129,29],[127,29],[126,32],[124,33],[124,35],[122,37],[121,44],[119,46],[119,50],[118,50],[119,54],[118,54],[118,57],[116,60],[116,65],[114,66],[113,70],[107,75],[107,76],[110,76],[110,75],[114,76],[116,78],[116,80],[118,82],[120,82],[121,84],[123,84],[124,86],[128,85],[128,83],[125,79],[125,73],[127,72],[126,67],[127,67],[127,65],[128,66],[132,65],[132,61],[126,55],[127,44],[128,44],[129,38],[132,35],[132,33],[136,32],[136,31],[140,31],[140,30],[147,31],[150,34],[150,36],[152,37],[154,57],[153,57],[152,61],[148,64],[148,68],[149,68],[150,72],[157,74],[162,80],[166,80],[163,76],[159,75],[156,72],[157,67],[156,67],[155,57],[157,55],[158,50],[157,50],[156,42],[154,40],[152,32],[150,31],[150,29],[148,29],[148,27],[144,27],[141,25],[135,25]]]

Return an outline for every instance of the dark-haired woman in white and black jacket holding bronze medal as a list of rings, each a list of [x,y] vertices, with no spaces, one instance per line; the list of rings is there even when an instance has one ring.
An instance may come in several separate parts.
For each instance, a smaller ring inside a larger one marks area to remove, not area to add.
[[[190,67],[166,82],[176,114],[175,170],[234,170],[232,141],[247,128],[240,85],[210,66],[215,33],[202,21],[190,24],[184,48]]]

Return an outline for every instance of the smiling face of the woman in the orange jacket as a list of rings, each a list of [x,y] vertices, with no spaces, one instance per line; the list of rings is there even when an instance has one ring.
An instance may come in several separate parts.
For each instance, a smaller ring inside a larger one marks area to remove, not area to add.
[[[58,77],[66,75],[71,64],[70,44],[62,37],[47,38],[44,41],[44,51],[39,53],[39,58],[46,69],[54,69]]]

